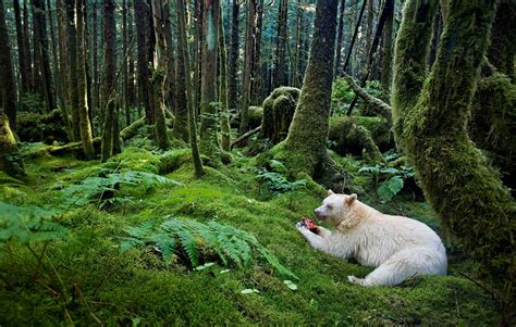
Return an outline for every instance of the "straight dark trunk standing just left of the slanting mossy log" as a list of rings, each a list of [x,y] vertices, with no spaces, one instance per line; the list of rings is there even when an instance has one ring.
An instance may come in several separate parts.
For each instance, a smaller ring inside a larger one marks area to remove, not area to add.
[[[105,0],[102,7],[102,42],[103,42],[103,65],[102,65],[102,103],[105,108],[105,120],[102,126],[102,150],[101,161],[106,162],[113,154],[114,120],[116,99],[114,97],[115,87],[115,22],[114,22],[114,0]],[[139,13],[142,15],[142,13]],[[118,135],[116,135],[118,137]]]

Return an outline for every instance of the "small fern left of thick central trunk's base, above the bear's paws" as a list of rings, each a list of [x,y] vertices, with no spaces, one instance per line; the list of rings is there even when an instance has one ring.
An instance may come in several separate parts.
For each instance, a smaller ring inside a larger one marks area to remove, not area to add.
[[[256,178],[266,186],[272,196],[275,197],[280,193],[293,191],[306,186],[305,179],[295,181],[290,181],[286,179],[284,175],[287,174],[287,169],[280,161],[270,160],[269,166],[271,167],[272,172],[269,172],[265,168],[258,169],[258,175]]]

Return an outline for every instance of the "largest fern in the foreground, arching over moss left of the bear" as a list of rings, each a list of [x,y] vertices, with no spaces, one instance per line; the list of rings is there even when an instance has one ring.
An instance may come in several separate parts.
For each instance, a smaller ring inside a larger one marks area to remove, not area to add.
[[[213,221],[201,224],[168,216],[157,227],[147,222],[127,228],[126,232],[128,236],[122,238],[122,252],[135,247],[153,244],[162,254],[162,259],[171,262],[174,254],[183,251],[192,266],[197,266],[197,269],[211,266],[205,264],[199,267],[199,261],[208,249],[214,251],[224,265],[233,263],[238,267],[247,266],[253,254],[258,253],[281,275],[299,279],[283,266],[275,255],[261,246],[253,234]]]

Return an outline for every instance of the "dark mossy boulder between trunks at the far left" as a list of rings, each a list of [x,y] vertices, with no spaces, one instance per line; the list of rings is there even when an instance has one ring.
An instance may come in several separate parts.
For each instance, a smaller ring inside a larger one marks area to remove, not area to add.
[[[53,110],[48,114],[34,112],[21,112],[17,115],[16,133],[21,141],[67,142],[65,123],[60,110]]]

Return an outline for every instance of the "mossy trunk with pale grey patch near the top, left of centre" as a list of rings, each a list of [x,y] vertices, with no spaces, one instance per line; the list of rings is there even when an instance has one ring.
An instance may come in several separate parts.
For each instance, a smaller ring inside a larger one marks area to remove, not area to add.
[[[205,0],[202,15],[202,71],[200,76],[200,151],[214,156],[220,152],[217,139],[217,58],[219,41],[219,1]]]

